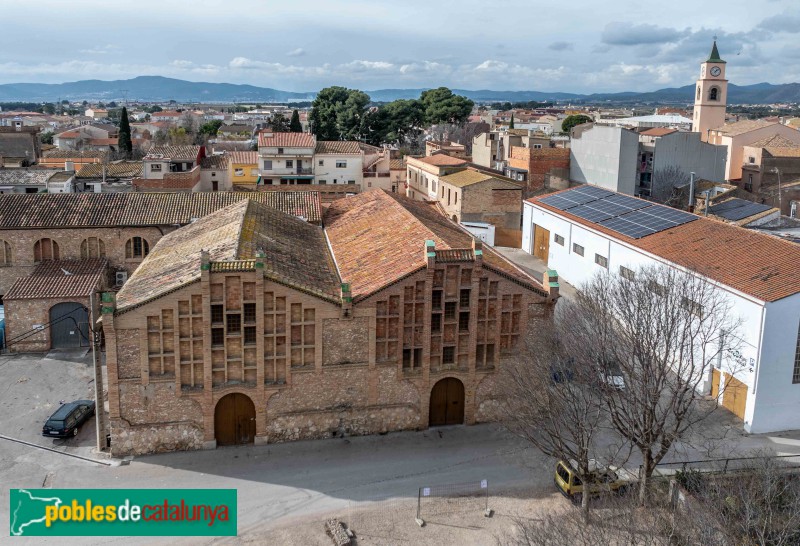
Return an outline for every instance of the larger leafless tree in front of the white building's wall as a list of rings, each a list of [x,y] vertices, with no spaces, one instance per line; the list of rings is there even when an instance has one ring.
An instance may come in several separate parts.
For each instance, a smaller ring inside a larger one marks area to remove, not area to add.
[[[666,266],[597,275],[576,301],[609,419],[641,454],[644,504],[656,465],[716,408],[703,403],[712,367],[737,371],[727,355],[739,346],[741,321],[710,282]]]

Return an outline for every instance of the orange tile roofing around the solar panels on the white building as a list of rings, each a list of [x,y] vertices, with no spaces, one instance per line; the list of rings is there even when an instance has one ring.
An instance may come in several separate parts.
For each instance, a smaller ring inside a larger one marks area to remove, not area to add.
[[[794,243],[703,217],[631,239],[569,211],[546,205],[540,201],[541,197],[544,196],[528,201],[762,301],[775,301],[800,292],[800,246]]]

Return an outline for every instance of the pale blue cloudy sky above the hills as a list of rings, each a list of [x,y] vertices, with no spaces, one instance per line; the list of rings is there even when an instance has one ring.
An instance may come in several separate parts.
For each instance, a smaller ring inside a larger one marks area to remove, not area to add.
[[[647,91],[694,82],[714,35],[731,82],[800,81],[797,0],[11,0],[3,20],[0,83]]]

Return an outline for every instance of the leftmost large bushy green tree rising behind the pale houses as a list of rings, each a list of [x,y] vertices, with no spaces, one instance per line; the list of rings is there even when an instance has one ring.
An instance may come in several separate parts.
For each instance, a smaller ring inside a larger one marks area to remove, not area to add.
[[[311,105],[311,130],[319,140],[360,140],[369,95],[333,86],[321,90]]]

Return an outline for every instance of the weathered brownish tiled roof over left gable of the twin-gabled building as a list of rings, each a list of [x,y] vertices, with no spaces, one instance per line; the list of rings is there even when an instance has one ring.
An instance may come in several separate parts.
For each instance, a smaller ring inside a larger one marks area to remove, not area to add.
[[[165,235],[117,294],[117,309],[198,281],[201,250],[217,271],[249,269],[262,251],[268,279],[339,301],[340,281],[322,228],[244,199]]]

